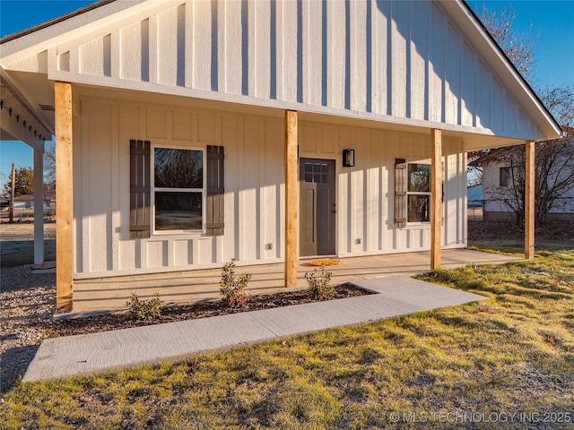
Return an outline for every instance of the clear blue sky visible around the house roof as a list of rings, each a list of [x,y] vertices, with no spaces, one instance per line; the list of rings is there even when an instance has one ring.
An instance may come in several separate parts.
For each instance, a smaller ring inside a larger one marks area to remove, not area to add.
[[[30,28],[92,1],[0,0],[0,37]],[[478,14],[485,3],[491,10],[512,7],[516,12],[514,29],[540,34],[535,48],[535,86],[574,85],[574,0],[468,0]],[[11,165],[32,165],[32,150],[22,142],[0,144],[0,185],[7,180]]]

